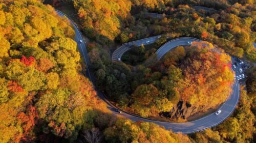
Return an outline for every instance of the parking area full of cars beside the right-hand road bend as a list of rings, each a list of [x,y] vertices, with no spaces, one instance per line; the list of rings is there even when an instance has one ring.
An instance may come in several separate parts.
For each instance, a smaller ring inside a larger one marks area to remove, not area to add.
[[[245,71],[249,69],[251,65],[234,56],[231,57],[231,60],[232,69],[234,70],[234,72],[236,72],[236,76],[234,77],[234,79],[237,79],[239,83],[242,84],[243,81],[245,81],[246,78],[248,77]]]

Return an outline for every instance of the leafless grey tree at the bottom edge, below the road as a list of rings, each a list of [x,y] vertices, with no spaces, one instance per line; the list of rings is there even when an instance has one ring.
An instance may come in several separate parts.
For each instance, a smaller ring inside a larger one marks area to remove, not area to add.
[[[91,130],[84,130],[79,142],[81,143],[100,143],[102,134],[98,128],[92,128]]]

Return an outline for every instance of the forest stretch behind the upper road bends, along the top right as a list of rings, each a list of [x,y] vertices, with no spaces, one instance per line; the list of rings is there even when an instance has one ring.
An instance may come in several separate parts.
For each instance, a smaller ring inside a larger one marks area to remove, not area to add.
[[[199,38],[218,45],[231,55],[246,57],[252,62],[256,60],[252,45],[255,41],[253,31],[256,30],[255,5],[252,1],[237,3],[231,0],[203,0],[195,3],[121,0],[104,4],[105,2],[107,1],[74,1],[82,30],[89,38],[101,44],[114,41],[126,43],[166,34],[170,38]],[[211,6],[216,10],[207,12],[192,8],[198,5]],[[145,19],[144,11],[161,13],[165,18]]]

